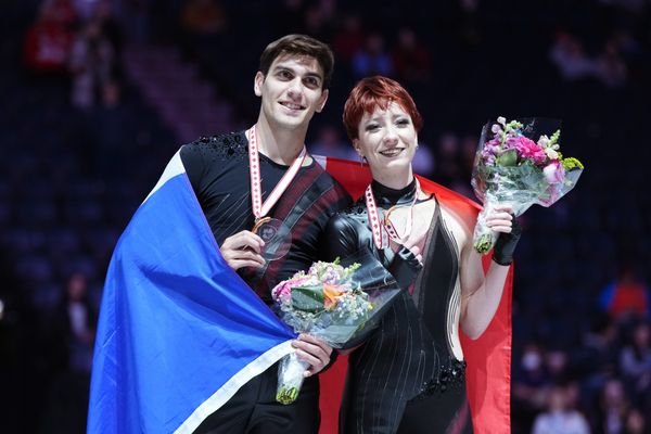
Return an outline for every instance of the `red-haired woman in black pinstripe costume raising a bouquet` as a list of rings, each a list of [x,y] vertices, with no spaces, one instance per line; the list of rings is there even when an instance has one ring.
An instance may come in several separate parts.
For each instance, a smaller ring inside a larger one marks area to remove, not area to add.
[[[484,277],[472,246],[475,212],[442,206],[413,177],[422,118],[409,93],[392,79],[365,78],[344,124],[373,181],[330,220],[328,256],[370,251],[406,291],[350,354],[341,432],[472,432],[458,329],[478,337],[499,305],[519,239],[511,209],[487,218],[500,237]]]

